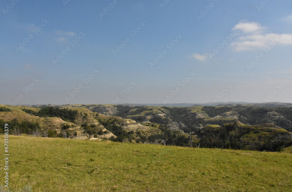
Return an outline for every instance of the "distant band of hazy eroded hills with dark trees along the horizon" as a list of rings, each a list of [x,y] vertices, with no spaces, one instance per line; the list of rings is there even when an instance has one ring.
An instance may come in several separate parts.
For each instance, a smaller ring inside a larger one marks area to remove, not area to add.
[[[232,103],[232,102],[231,102]],[[247,125],[272,124],[292,132],[292,106],[289,103],[235,106],[125,106],[125,105],[59,105],[84,107],[103,115],[115,115],[142,123],[150,121],[178,128],[186,133],[197,131],[208,124],[223,125],[241,121]],[[283,107],[284,106],[284,107]],[[41,107],[41,106],[38,106]],[[158,117],[160,116],[160,117]],[[173,124],[173,122],[175,122]]]

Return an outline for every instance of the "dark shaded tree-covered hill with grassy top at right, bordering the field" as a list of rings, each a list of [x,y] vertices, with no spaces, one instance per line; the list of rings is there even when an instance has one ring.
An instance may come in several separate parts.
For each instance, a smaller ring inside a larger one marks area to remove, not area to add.
[[[206,148],[232,148],[258,151],[277,151],[292,145],[292,134],[271,124],[245,125],[239,121],[207,125],[195,132],[196,145]]]

